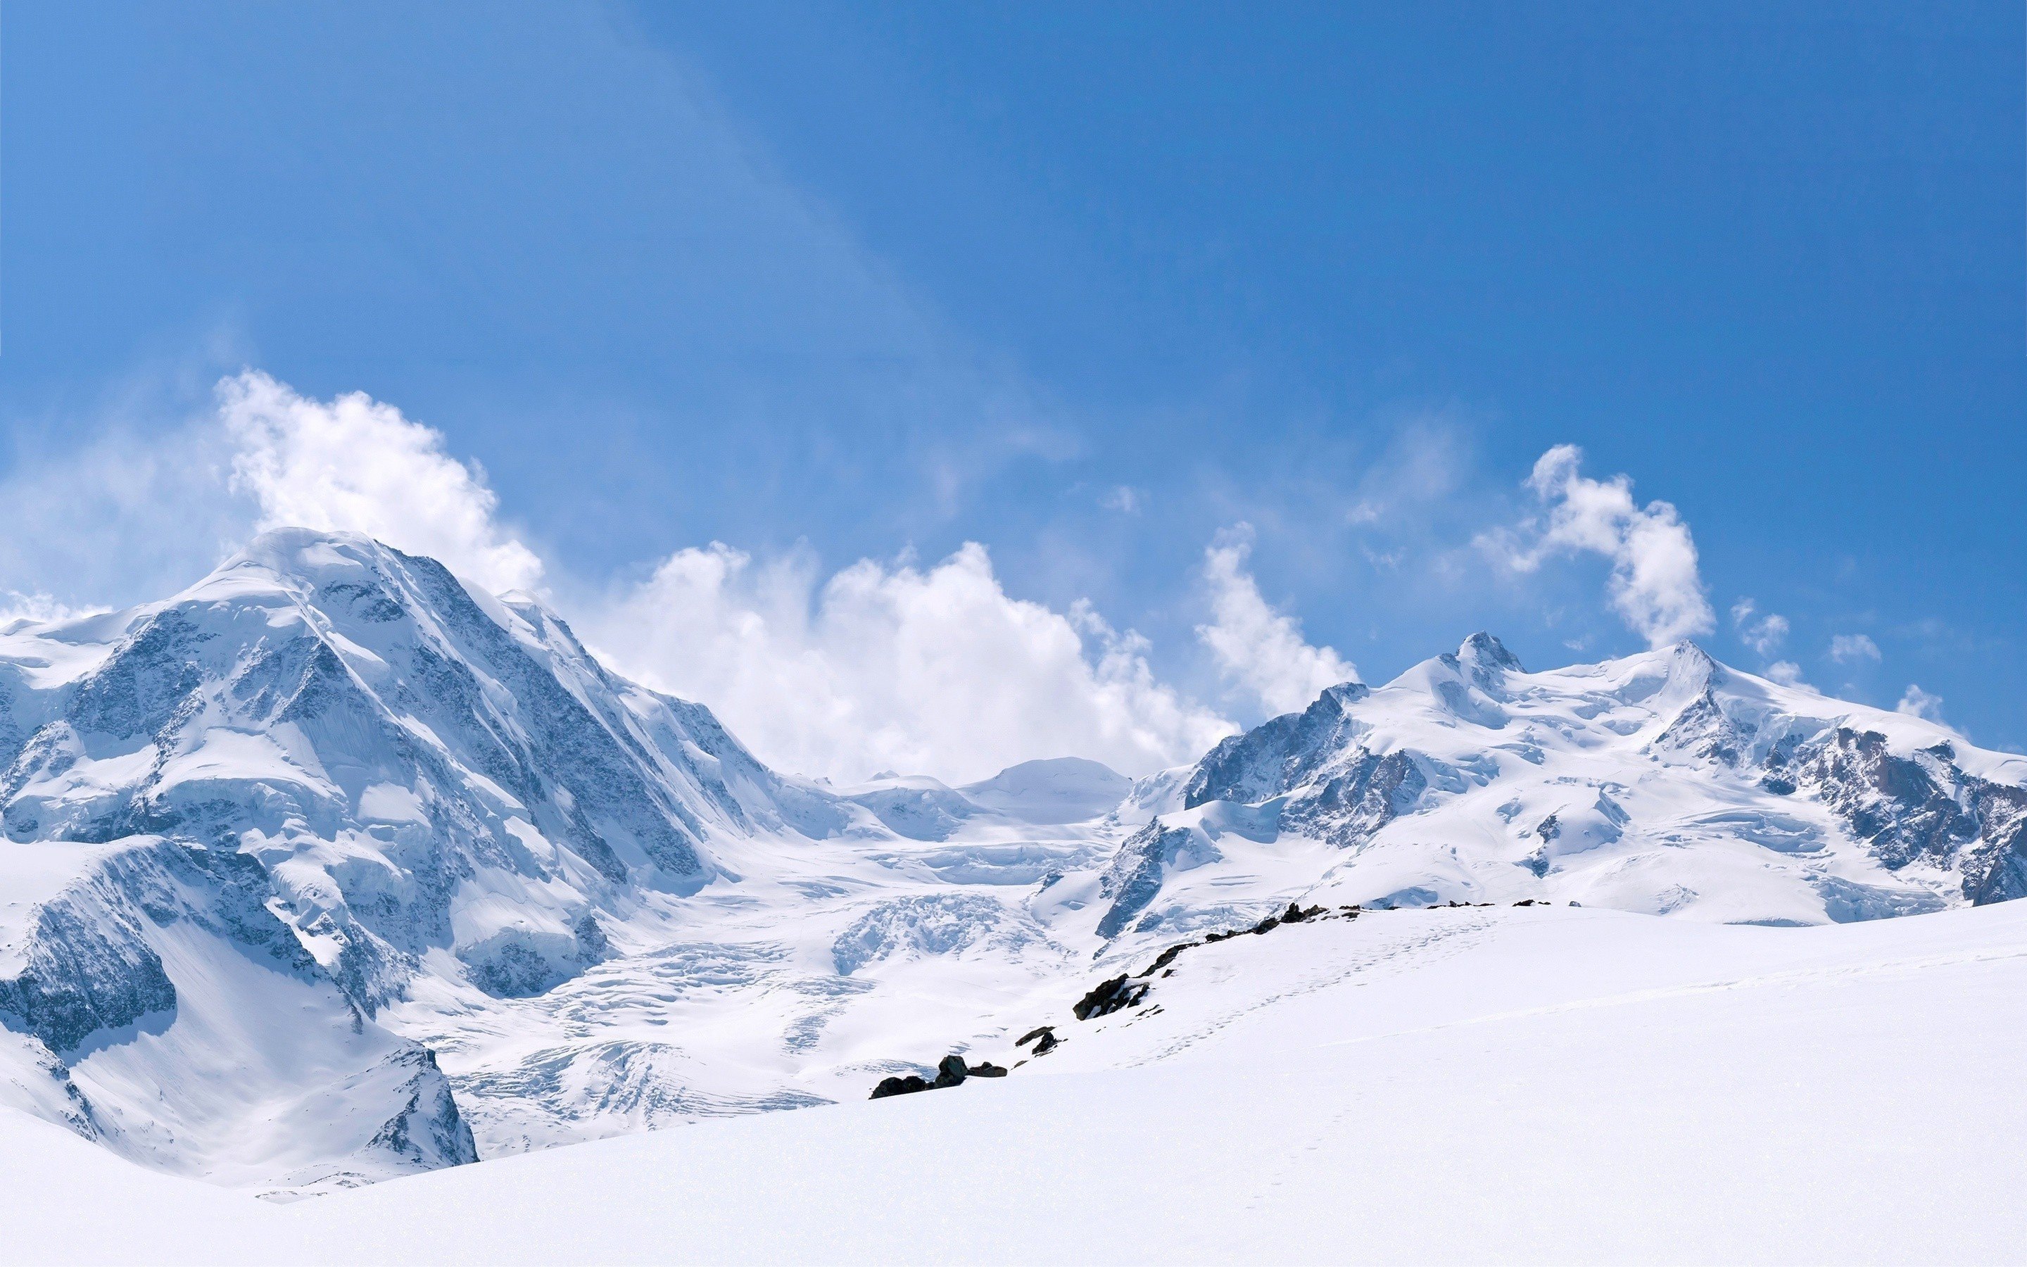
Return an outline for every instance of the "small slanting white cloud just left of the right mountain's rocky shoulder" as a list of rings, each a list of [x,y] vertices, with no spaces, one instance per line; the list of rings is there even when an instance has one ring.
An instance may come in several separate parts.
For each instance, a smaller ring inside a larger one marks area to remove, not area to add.
[[[1196,637],[1210,647],[1218,669],[1259,695],[1269,714],[1307,707],[1324,687],[1356,681],[1358,669],[1350,661],[1330,647],[1311,647],[1301,637],[1299,620],[1261,598],[1247,572],[1251,551],[1245,525],[1204,551],[1214,622],[1198,624]]]

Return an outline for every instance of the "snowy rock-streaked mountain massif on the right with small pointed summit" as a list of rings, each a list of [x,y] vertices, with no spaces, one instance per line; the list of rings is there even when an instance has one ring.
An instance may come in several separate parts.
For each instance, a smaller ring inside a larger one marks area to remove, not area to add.
[[[2023,785],[2027,758],[1688,643],[1526,673],[1474,635],[1384,687],[1332,687],[1224,740],[1184,778],[1182,807],[1257,807],[1277,839],[1334,845],[1309,890],[1332,900],[1808,924],[2027,894]],[[1101,933],[1228,890],[1206,845],[1180,845],[1186,825],[1159,813],[1127,845],[1143,855],[1131,880],[1127,853],[1115,864]]]

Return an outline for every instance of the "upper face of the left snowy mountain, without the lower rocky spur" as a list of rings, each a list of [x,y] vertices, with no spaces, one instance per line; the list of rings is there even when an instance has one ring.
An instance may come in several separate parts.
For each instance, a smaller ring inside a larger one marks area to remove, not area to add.
[[[711,831],[843,823],[537,604],[361,537],[270,533],[26,695],[10,839],[247,853],[369,1014],[430,947],[539,993],[604,955],[602,918],[703,884]]]

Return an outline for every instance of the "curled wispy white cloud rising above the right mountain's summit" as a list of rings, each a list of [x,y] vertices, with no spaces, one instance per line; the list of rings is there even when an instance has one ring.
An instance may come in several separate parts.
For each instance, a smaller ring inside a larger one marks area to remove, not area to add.
[[[1514,572],[1534,572],[1559,553],[1611,560],[1611,608],[1652,647],[1717,628],[1697,570],[1697,543],[1676,509],[1666,501],[1642,507],[1632,478],[1593,480],[1581,466],[1583,450],[1575,444],[1545,452],[1526,478],[1543,515],[1482,535],[1480,547]]]

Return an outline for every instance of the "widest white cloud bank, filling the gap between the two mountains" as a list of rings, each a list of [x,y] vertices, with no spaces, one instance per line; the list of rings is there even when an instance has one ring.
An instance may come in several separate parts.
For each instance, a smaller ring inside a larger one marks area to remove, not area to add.
[[[1145,774],[1232,732],[1088,604],[1009,598],[977,543],[821,586],[807,553],[679,549],[584,624],[614,667],[707,703],[762,760],[841,780],[963,782],[1038,756]]]

